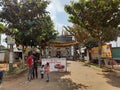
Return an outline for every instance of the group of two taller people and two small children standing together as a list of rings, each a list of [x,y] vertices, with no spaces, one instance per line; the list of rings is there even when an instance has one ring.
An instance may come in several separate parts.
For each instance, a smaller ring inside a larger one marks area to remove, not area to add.
[[[36,53],[31,53],[26,60],[26,63],[29,67],[29,71],[28,71],[29,81],[31,81],[31,79],[38,78],[38,60],[39,60],[39,57],[37,56]],[[44,74],[46,74],[46,77],[47,77],[46,82],[49,82],[49,73],[50,73],[49,63],[46,63],[46,65],[41,65],[39,71],[41,74],[41,79],[43,79]]]

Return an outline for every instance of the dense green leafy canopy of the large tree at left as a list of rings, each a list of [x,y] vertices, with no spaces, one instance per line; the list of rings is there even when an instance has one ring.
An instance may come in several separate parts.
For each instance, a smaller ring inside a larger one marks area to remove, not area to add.
[[[8,29],[5,33],[15,35],[16,44],[36,46],[55,39],[57,31],[46,10],[45,0],[1,0],[0,21]]]

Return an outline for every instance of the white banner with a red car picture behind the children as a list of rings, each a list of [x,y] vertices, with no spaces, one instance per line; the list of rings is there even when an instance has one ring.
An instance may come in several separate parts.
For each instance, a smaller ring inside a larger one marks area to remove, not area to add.
[[[50,71],[60,71],[60,72],[67,71],[66,58],[44,58],[42,59],[42,65],[45,65],[47,62],[50,64]]]

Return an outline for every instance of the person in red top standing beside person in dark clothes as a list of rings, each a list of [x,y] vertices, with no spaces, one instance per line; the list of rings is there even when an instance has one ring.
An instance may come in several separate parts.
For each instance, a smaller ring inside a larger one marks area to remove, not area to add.
[[[27,60],[26,60],[26,63],[29,67],[29,70],[28,70],[28,81],[31,81],[32,79],[32,73],[33,73],[33,58],[34,56],[33,55],[30,55]]]

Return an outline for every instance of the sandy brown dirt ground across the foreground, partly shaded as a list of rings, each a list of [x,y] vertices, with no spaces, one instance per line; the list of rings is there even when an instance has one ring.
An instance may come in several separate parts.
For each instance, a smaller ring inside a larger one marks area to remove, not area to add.
[[[120,90],[120,77],[113,72],[85,66],[81,62],[67,61],[67,72],[51,72],[46,78],[27,81],[27,73],[5,80],[0,90]]]

